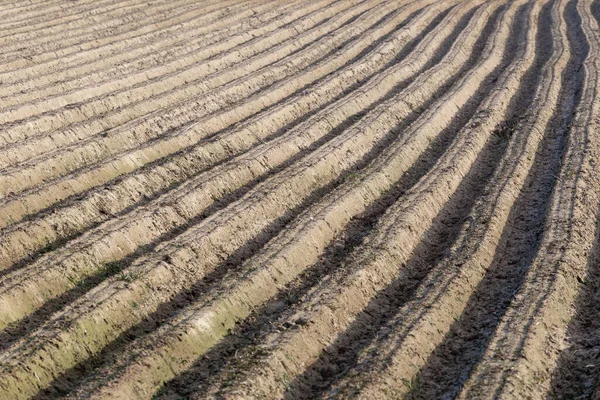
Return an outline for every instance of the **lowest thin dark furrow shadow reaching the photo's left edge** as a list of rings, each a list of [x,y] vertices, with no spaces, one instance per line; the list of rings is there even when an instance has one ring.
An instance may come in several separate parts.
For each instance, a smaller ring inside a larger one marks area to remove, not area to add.
[[[394,63],[401,61],[406,55],[408,55],[410,53],[410,51],[418,44],[418,42],[426,35],[426,33],[429,32],[431,29],[433,29],[449,11],[450,11],[450,9],[442,12],[442,16],[440,18],[436,18],[435,21],[433,21],[432,24],[430,26],[428,26],[428,29],[426,30],[426,32],[423,32],[421,35],[419,35],[419,37],[415,38],[413,41],[411,41],[409,44],[407,44],[407,46],[398,53],[396,60],[394,62],[391,62],[390,64],[388,64],[383,70],[393,66]],[[414,16],[414,15],[416,15],[416,13],[413,14],[412,16]],[[470,13],[470,15],[472,15],[472,13]],[[411,18],[412,18],[412,16],[411,16]],[[456,37],[460,33],[460,31],[462,29],[464,29],[467,22],[468,22],[468,18],[465,18],[464,21],[461,21],[461,23],[459,25],[457,25],[457,29],[452,34],[451,37]],[[405,24],[405,23],[407,23],[407,21],[403,22],[403,24]],[[373,46],[375,46],[375,44]],[[446,49],[446,47],[444,47],[444,46],[441,46],[440,48]],[[435,57],[435,59],[440,59],[440,58],[441,58],[441,55],[436,55],[436,57]],[[375,75],[376,75],[376,73],[373,74],[372,76],[375,76]],[[370,77],[361,81],[360,84],[353,85],[351,90],[358,89],[360,87],[360,85],[362,83],[366,82],[368,79],[370,79]],[[412,77],[407,79],[407,81],[410,81],[411,79],[412,79]],[[388,99],[392,95],[396,94],[397,91],[401,90],[405,86],[406,86],[406,84],[404,86],[398,86],[397,88],[395,88],[395,90],[392,90],[385,97],[385,99]],[[351,93],[351,92],[345,91],[345,95],[347,95],[348,93]],[[340,98],[341,97],[342,96],[340,96]],[[377,102],[376,104],[380,104],[383,101],[384,100],[381,100],[381,101]],[[335,138],[340,133],[342,133],[349,127],[351,127],[353,124],[355,124],[358,120],[360,120],[364,115],[366,115],[369,111],[371,111],[375,107],[376,107],[376,105],[373,105],[369,109],[351,116],[344,123],[340,124],[335,129],[333,129],[329,134],[327,134],[320,140],[313,143],[310,147],[304,149],[303,151],[296,154],[294,157],[288,159],[285,163],[283,163],[279,167],[274,168],[273,170],[269,171],[268,173],[257,177],[254,181],[248,183],[247,185],[240,188],[239,190],[234,191],[234,192],[224,196],[223,198],[217,200],[211,207],[209,207],[207,210],[205,210],[202,214],[198,215],[195,218],[190,219],[186,224],[169,231],[168,233],[158,237],[156,240],[154,240],[153,242],[151,242],[145,246],[141,246],[140,248],[138,248],[135,251],[135,253],[131,254],[128,257],[125,257],[122,260],[105,264],[98,274],[90,276],[89,278],[83,280],[81,283],[79,283],[75,288],[71,289],[70,291],[65,292],[61,296],[58,296],[58,297],[48,301],[40,309],[36,310],[31,315],[23,318],[19,322],[9,325],[4,331],[0,332],[0,350],[8,348],[12,343],[14,343],[19,338],[23,337],[24,335],[27,335],[29,332],[34,331],[36,328],[41,326],[46,320],[48,320],[48,318],[53,313],[59,311],[60,309],[65,307],[65,305],[76,300],[78,297],[82,296],[84,293],[86,293],[88,290],[90,290],[94,286],[98,285],[99,283],[101,283],[102,281],[104,281],[105,279],[107,279],[113,275],[119,274],[124,268],[126,268],[128,265],[130,265],[137,258],[141,257],[144,254],[154,251],[154,249],[160,243],[162,243],[166,240],[172,239],[173,237],[176,237],[179,234],[185,232],[187,229],[191,228],[192,226],[197,225],[202,220],[204,220],[208,216],[212,215],[216,211],[223,209],[226,206],[228,206],[229,204],[231,204],[233,201],[240,199],[244,194],[246,194],[252,188],[256,187],[257,184],[265,181],[269,176],[271,176],[279,171],[284,170],[285,168],[291,166],[294,162],[300,160],[302,157],[310,154],[311,152],[315,151],[319,147],[323,146],[324,144],[329,142],[331,139]],[[323,106],[322,108],[325,108],[325,106]],[[303,120],[305,120],[307,118],[308,117],[299,118],[301,121],[299,121],[298,123],[302,122]],[[295,124],[293,124],[293,125],[295,125]],[[273,136],[275,137],[275,136],[279,136],[279,135],[285,133],[285,131],[293,128],[293,125],[289,124],[288,126],[283,127],[281,129],[281,132],[278,132]],[[223,164],[223,163],[225,163],[225,161],[222,163],[219,163],[219,165]],[[200,175],[200,173],[198,175]],[[137,205],[136,205],[136,207],[137,207]],[[135,207],[132,206],[132,208],[135,208]],[[128,211],[131,211],[131,210],[128,209]],[[123,212],[123,214],[124,213],[125,212]],[[79,234],[78,234],[78,236],[79,236]]]

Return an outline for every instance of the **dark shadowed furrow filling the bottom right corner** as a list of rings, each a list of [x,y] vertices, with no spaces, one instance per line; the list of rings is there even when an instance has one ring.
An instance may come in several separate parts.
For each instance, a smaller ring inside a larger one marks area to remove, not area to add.
[[[591,11],[600,23],[600,1],[592,3]],[[577,40],[586,39],[578,37]],[[561,353],[552,376],[551,397],[556,399],[591,398],[600,387],[600,221],[596,224],[587,266],[588,276],[585,280],[579,278],[581,289],[575,302],[575,315],[567,328],[569,347]]]

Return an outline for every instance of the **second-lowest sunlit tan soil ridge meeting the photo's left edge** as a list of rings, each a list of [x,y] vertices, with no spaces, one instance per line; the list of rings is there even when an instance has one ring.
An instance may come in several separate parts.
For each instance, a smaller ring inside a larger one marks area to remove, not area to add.
[[[195,177],[183,189],[176,188],[173,190],[173,194],[162,196],[145,207],[126,214],[116,221],[109,221],[100,225],[77,242],[70,244],[66,249],[67,252],[61,250],[58,253],[58,257],[54,254],[49,257],[43,257],[26,270],[21,270],[17,274],[7,276],[6,279],[3,279],[2,286],[5,290],[3,291],[4,296],[1,297],[5,301],[4,304],[11,304],[11,311],[10,314],[3,314],[2,318],[5,321],[19,318],[23,312],[27,313],[32,307],[38,307],[43,304],[44,298],[47,299],[48,296],[52,297],[60,293],[57,291],[64,291],[72,286],[73,279],[80,281],[83,277],[97,272],[98,265],[117,261],[135,251],[136,247],[150,243],[162,234],[167,234],[173,228],[172,224],[154,224],[155,226],[152,230],[142,229],[144,232],[142,236],[139,235],[139,232],[135,233],[137,231],[136,224],[131,225],[132,221],[143,220],[143,218],[140,218],[144,213],[149,218],[155,219],[156,216],[152,216],[154,214],[154,207],[160,206],[164,208],[164,204],[172,204],[179,205],[177,208],[186,208],[187,206],[185,205],[188,204],[192,206],[186,212],[189,217],[202,215],[205,207],[208,207],[216,199],[231,194],[236,189],[247,185],[252,179],[281,165],[285,160],[296,156],[303,149],[310,149],[310,146],[319,144],[320,141],[331,139],[331,137],[328,137],[328,133],[334,127],[340,126],[343,128],[345,121],[360,118],[365,106],[370,105],[370,108],[374,108],[378,103],[385,101],[386,97],[382,98],[382,93],[385,93],[386,89],[394,87],[395,84],[400,84],[400,88],[406,86],[406,82],[409,82],[411,74],[415,76],[419,72],[416,68],[422,66],[424,62],[424,60],[419,62],[418,58],[416,60],[414,58],[406,60],[396,66],[387,76],[376,76],[377,79],[368,87],[368,90],[364,90],[363,93],[359,92],[348,99],[341,99],[337,102],[339,104],[333,104],[323,110],[321,113],[322,116],[315,116],[315,118],[311,118],[290,132],[287,132],[285,136],[259,146],[250,153],[236,157],[215,170],[209,170],[207,174]],[[391,95],[393,94],[394,91],[391,92]],[[378,101],[378,99],[380,100]],[[402,112],[406,113],[406,106],[403,104],[402,107],[404,107]],[[215,183],[211,184],[211,180]],[[220,183],[225,181],[228,182],[226,186]],[[195,192],[202,189],[204,191],[202,196],[204,198],[203,201],[197,195],[194,195]],[[173,221],[176,225],[181,225],[185,220],[177,218]],[[117,229],[119,225],[121,228]],[[118,237],[128,238],[126,239],[128,244],[125,245],[123,240],[118,239]],[[132,238],[135,239],[132,241]],[[110,244],[114,240],[121,243],[116,246],[114,243]],[[94,243],[93,247],[96,250],[88,248],[85,252],[82,252],[85,243]],[[105,244],[108,244],[109,247],[107,248]],[[69,254],[73,254],[74,258],[70,257]],[[57,261],[60,261],[60,265],[63,266],[62,268],[53,267],[48,269],[41,267],[48,265],[49,262],[56,263]],[[60,273],[60,276],[55,276],[58,270],[63,270],[64,272],[64,268],[72,272],[79,272],[76,275],[69,274],[69,278],[66,278],[64,273]],[[79,278],[77,275],[79,275]],[[61,281],[63,285],[59,283]],[[19,282],[29,283],[27,288],[25,288]],[[49,282],[52,282],[52,284],[48,285]],[[35,289],[36,287],[37,289]],[[20,300],[14,302],[10,300],[11,298],[20,298]],[[28,300],[24,301],[25,298]],[[20,305],[17,303],[20,303]]]

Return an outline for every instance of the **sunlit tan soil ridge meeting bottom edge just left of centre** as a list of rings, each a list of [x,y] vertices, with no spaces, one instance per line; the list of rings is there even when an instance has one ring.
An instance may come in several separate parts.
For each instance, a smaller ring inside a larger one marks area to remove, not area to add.
[[[511,8],[506,18],[510,20],[515,11],[514,8]],[[506,25],[506,22],[502,23],[503,27]],[[503,31],[501,37],[505,38],[507,30],[503,29]],[[501,57],[504,43],[499,47],[500,49],[494,47],[496,53],[500,52],[500,55],[496,54],[496,57]],[[533,54],[532,51],[529,53]],[[259,362],[258,367],[244,373],[243,376],[248,378],[241,382],[238,381],[235,386],[232,386],[230,391],[226,392],[228,395],[280,397],[287,390],[288,395],[293,398],[304,393],[294,390],[297,389],[295,384],[298,382],[288,386],[290,379],[294,379],[296,374],[301,373],[307,363],[315,360],[326,343],[335,338],[339,330],[351,322],[351,315],[363,309],[370,296],[373,296],[376,291],[393,279],[394,266],[403,264],[401,258],[408,256],[411,252],[410,241],[418,243],[419,237],[424,233],[420,233],[415,228],[419,226],[416,221],[418,220],[422,224],[422,221],[430,220],[436,215],[437,210],[432,207],[432,203],[438,202],[442,206],[446,201],[446,195],[439,193],[440,190],[456,189],[462,177],[462,173],[457,171],[457,168],[468,170],[475,161],[479,153],[478,147],[479,149],[484,147],[486,136],[492,133],[493,127],[502,116],[501,109],[506,107],[502,104],[508,103],[512,93],[518,87],[519,75],[524,72],[522,64],[531,63],[531,58],[519,63],[520,73],[508,73],[505,79],[498,83],[497,94],[493,96],[498,104],[490,101],[486,105],[495,107],[485,108],[485,110],[497,111],[491,112],[491,115],[485,117],[482,117],[481,114],[476,115],[475,121],[477,122],[469,125],[465,131],[461,131],[457,143],[452,144],[433,172],[428,173],[427,177],[419,183],[416,189],[411,190],[411,194],[407,195],[404,201],[386,213],[383,219],[385,223],[379,224],[383,226],[379,226],[377,229],[378,236],[369,240],[365,248],[352,258],[351,267],[349,267],[350,274],[323,278],[309,295],[306,300],[307,304],[304,304],[300,311],[287,319],[287,324],[284,322],[284,325],[294,326],[294,321],[305,321],[301,324],[302,327],[291,329],[291,332],[270,335],[271,337],[266,339],[267,344],[263,347],[263,351],[269,354],[267,359]],[[497,62],[498,59],[495,60],[495,63]],[[494,65],[494,61],[491,63]],[[484,73],[485,75],[487,74]],[[480,133],[482,131],[483,133]],[[454,180],[454,184],[451,183],[452,180]],[[431,210],[431,208],[434,209]],[[402,210],[401,213],[399,213],[400,210]],[[427,213],[430,213],[431,217]],[[398,218],[396,218],[397,216]],[[398,228],[398,225],[402,225],[404,228]],[[201,325],[199,327],[203,329]],[[310,392],[308,393],[308,397],[310,397]],[[390,393],[388,393],[389,395]]]

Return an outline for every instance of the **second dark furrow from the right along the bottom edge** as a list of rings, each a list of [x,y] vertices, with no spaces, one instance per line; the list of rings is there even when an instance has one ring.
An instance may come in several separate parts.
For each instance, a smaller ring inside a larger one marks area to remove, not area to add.
[[[542,16],[540,19],[540,26],[542,24],[547,26],[553,24],[549,7],[550,5],[547,6],[547,16]],[[560,16],[556,10],[554,11],[554,20],[560,22]],[[542,36],[538,38],[538,58],[548,58],[552,54],[553,39],[559,42],[554,55],[554,59],[559,61],[560,69],[558,71],[564,69],[565,63],[568,60],[568,53],[563,53],[562,55],[560,53],[563,46],[567,43],[566,37],[564,40],[561,39],[561,33],[564,37],[564,23],[562,25],[562,32],[560,30],[554,32],[554,38],[551,32],[547,32],[546,37]],[[540,57],[540,54],[544,56]],[[561,56],[560,59],[558,58],[559,55]],[[533,76],[539,76],[539,71],[532,71],[532,73],[534,74]],[[541,81],[540,88],[537,89],[538,93],[543,93],[540,92],[540,89],[547,90],[552,78],[551,75],[546,75],[545,79]],[[527,80],[525,81],[527,82]],[[534,85],[533,87],[536,86]],[[559,88],[560,83],[555,80],[554,86]],[[529,93],[535,93],[535,91],[528,89]],[[556,98],[552,100],[556,104]],[[548,107],[548,104],[544,104],[544,106]],[[547,123],[547,119],[548,117],[545,118],[544,122]],[[524,136],[526,136],[530,134],[528,131],[530,129],[526,125],[524,129],[517,127],[514,135],[525,134]],[[538,149],[547,147],[546,138],[542,138],[541,142],[539,136],[532,139],[532,141],[537,139],[535,140],[535,144],[538,146]],[[538,150],[539,152],[540,150]],[[531,154],[533,152],[529,154],[532,157]],[[513,159],[518,159],[517,155],[513,155],[512,157]],[[529,170],[518,169],[516,171],[519,172],[511,171],[512,173],[527,176],[521,192],[522,194],[512,205],[508,217],[509,222],[504,227],[500,236],[500,241],[496,247],[492,262],[489,266],[486,266],[485,276],[483,279],[469,282],[473,285],[474,289],[470,294],[466,307],[459,310],[461,312],[460,317],[456,317],[444,340],[428,359],[426,366],[421,370],[417,378],[419,388],[415,390],[415,396],[419,398],[456,396],[473,367],[481,360],[502,315],[506,312],[512,296],[522,282],[523,275],[529,263],[528,256],[523,249],[525,246],[520,247],[519,244],[531,246],[532,243],[535,243],[534,235],[539,235],[540,222],[543,221],[543,218],[540,218],[539,214],[536,214],[533,220],[526,216],[527,212],[531,212],[532,202],[525,200],[523,193],[527,191],[527,188],[533,187],[538,198],[544,194],[547,195],[547,193],[539,189],[539,183],[536,183],[535,178],[533,178],[536,176],[535,170],[538,168],[537,165],[543,165],[542,168],[544,170],[552,169],[551,166],[541,160],[543,158],[538,154],[534,159],[534,163],[528,166]],[[522,210],[525,210],[525,212]],[[529,215],[533,215],[533,213]],[[538,229],[537,232],[536,229]],[[512,233],[509,233],[511,231]],[[515,234],[515,232],[518,233]],[[458,315],[458,312],[454,315]],[[470,398],[469,395],[467,397]]]

